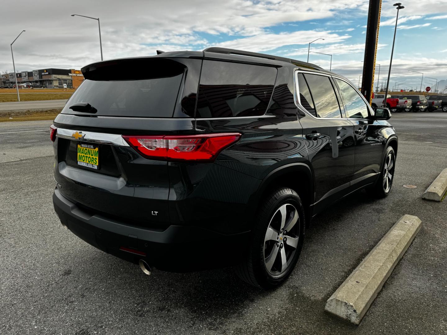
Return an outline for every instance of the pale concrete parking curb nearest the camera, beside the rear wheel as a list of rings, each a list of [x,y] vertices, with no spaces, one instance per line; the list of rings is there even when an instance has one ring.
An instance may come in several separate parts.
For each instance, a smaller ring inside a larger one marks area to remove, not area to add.
[[[325,311],[358,325],[420,229],[419,218],[402,216],[328,299]]]

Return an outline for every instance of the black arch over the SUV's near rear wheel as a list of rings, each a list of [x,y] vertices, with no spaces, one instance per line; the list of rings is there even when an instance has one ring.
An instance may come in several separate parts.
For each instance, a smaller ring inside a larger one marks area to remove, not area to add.
[[[253,210],[253,213],[269,193],[280,187],[288,187],[298,193],[303,202],[306,215],[305,222],[306,226],[308,226],[311,218],[314,184],[312,169],[306,163],[287,164],[267,174],[261,181],[256,196],[251,201],[250,208]]]

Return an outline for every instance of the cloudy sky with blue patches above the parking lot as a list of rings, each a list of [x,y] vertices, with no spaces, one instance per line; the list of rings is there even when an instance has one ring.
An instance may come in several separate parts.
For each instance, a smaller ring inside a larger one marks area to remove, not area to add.
[[[421,75],[447,79],[447,1],[401,0],[391,76],[421,85]],[[396,20],[393,1],[383,0],[377,63],[386,78]],[[362,73],[368,1],[351,0],[0,0],[0,71],[76,68],[100,59],[153,55],[155,50],[203,50],[208,46],[307,59],[311,51],[333,54],[332,70],[355,84]],[[329,56],[309,62],[329,69]],[[378,67],[377,67],[378,70]],[[378,73],[376,72],[376,75]],[[377,76],[375,78],[377,81]],[[424,78],[422,86],[430,85]]]

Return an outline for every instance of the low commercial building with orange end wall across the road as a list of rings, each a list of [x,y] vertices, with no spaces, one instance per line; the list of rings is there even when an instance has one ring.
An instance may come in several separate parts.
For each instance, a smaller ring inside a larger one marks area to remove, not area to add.
[[[34,87],[78,88],[84,80],[80,70],[47,68],[15,74],[17,83],[31,83]],[[16,83],[14,73],[0,75],[0,87],[12,88]]]

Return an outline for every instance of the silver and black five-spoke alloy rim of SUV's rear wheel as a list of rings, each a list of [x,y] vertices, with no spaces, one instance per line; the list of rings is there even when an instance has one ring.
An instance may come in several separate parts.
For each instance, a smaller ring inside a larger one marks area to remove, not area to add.
[[[299,242],[299,214],[294,205],[281,205],[270,219],[264,238],[264,264],[273,276],[286,272]]]

